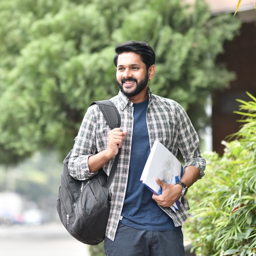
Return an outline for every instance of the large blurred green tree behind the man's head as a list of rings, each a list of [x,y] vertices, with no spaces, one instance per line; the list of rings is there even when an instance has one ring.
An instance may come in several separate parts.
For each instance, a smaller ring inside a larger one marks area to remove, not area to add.
[[[155,49],[153,93],[181,103],[199,130],[208,94],[234,78],[216,57],[239,26],[203,0],[2,0],[0,145],[66,155],[89,104],[118,93],[114,47],[126,40]]]

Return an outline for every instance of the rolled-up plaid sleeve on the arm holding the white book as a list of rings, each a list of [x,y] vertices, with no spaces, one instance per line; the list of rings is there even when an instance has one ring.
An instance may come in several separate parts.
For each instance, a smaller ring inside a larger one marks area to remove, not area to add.
[[[195,131],[187,113],[178,104],[179,138],[178,147],[185,161],[185,168],[189,165],[196,166],[200,170],[199,179],[204,176],[206,161],[201,157],[200,144],[197,132]]]

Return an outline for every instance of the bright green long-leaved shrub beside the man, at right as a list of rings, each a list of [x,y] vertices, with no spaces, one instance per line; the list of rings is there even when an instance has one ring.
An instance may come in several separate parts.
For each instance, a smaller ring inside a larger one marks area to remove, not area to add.
[[[251,95],[250,95],[251,96]],[[187,226],[197,255],[256,255],[256,98],[241,101],[246,124],[226,143],[223,157],[207,158],[203,182],[191,187]],[[192,202],[192,204],[191,204]]]

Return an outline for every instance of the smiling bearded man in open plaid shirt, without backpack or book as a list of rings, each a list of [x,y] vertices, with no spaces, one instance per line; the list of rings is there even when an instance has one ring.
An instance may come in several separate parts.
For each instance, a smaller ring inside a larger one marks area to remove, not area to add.
[[[153,49],[145,42],[128,41],[115,51],[120,92],[111,101],[120,113],[121,127],[110,131],[98,106],[91,106],[70,157],[70,174],[79,180],[88,179],[100,167],[109,174],[120,150],[110,189],[105,254],[184,256],[181,225],[189,206],[182,197],[176,214],[168,207],[184,195],[183,187],[190,187],[204,175],[205,160],[200,156],[197,133],[177,102],[156,96],[148,88],[156,71]],[[179,147],[185,160],[183,183],[170,185],[156,180],[162,187],[160,196],[152,196],[140,182],[155,140],[174,155]]]

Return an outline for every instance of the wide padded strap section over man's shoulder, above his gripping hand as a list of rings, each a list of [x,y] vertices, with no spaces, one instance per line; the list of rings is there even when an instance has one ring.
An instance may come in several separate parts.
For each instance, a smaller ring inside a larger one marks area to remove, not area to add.
[[[111,130],[120,127],[121,117],[115,104],[112,101],[110,100],[94,101],[90,106],[94,104],[97,104],[99,106],[99,109],[102,112],[106,120],[106,123],[108,123]]]

